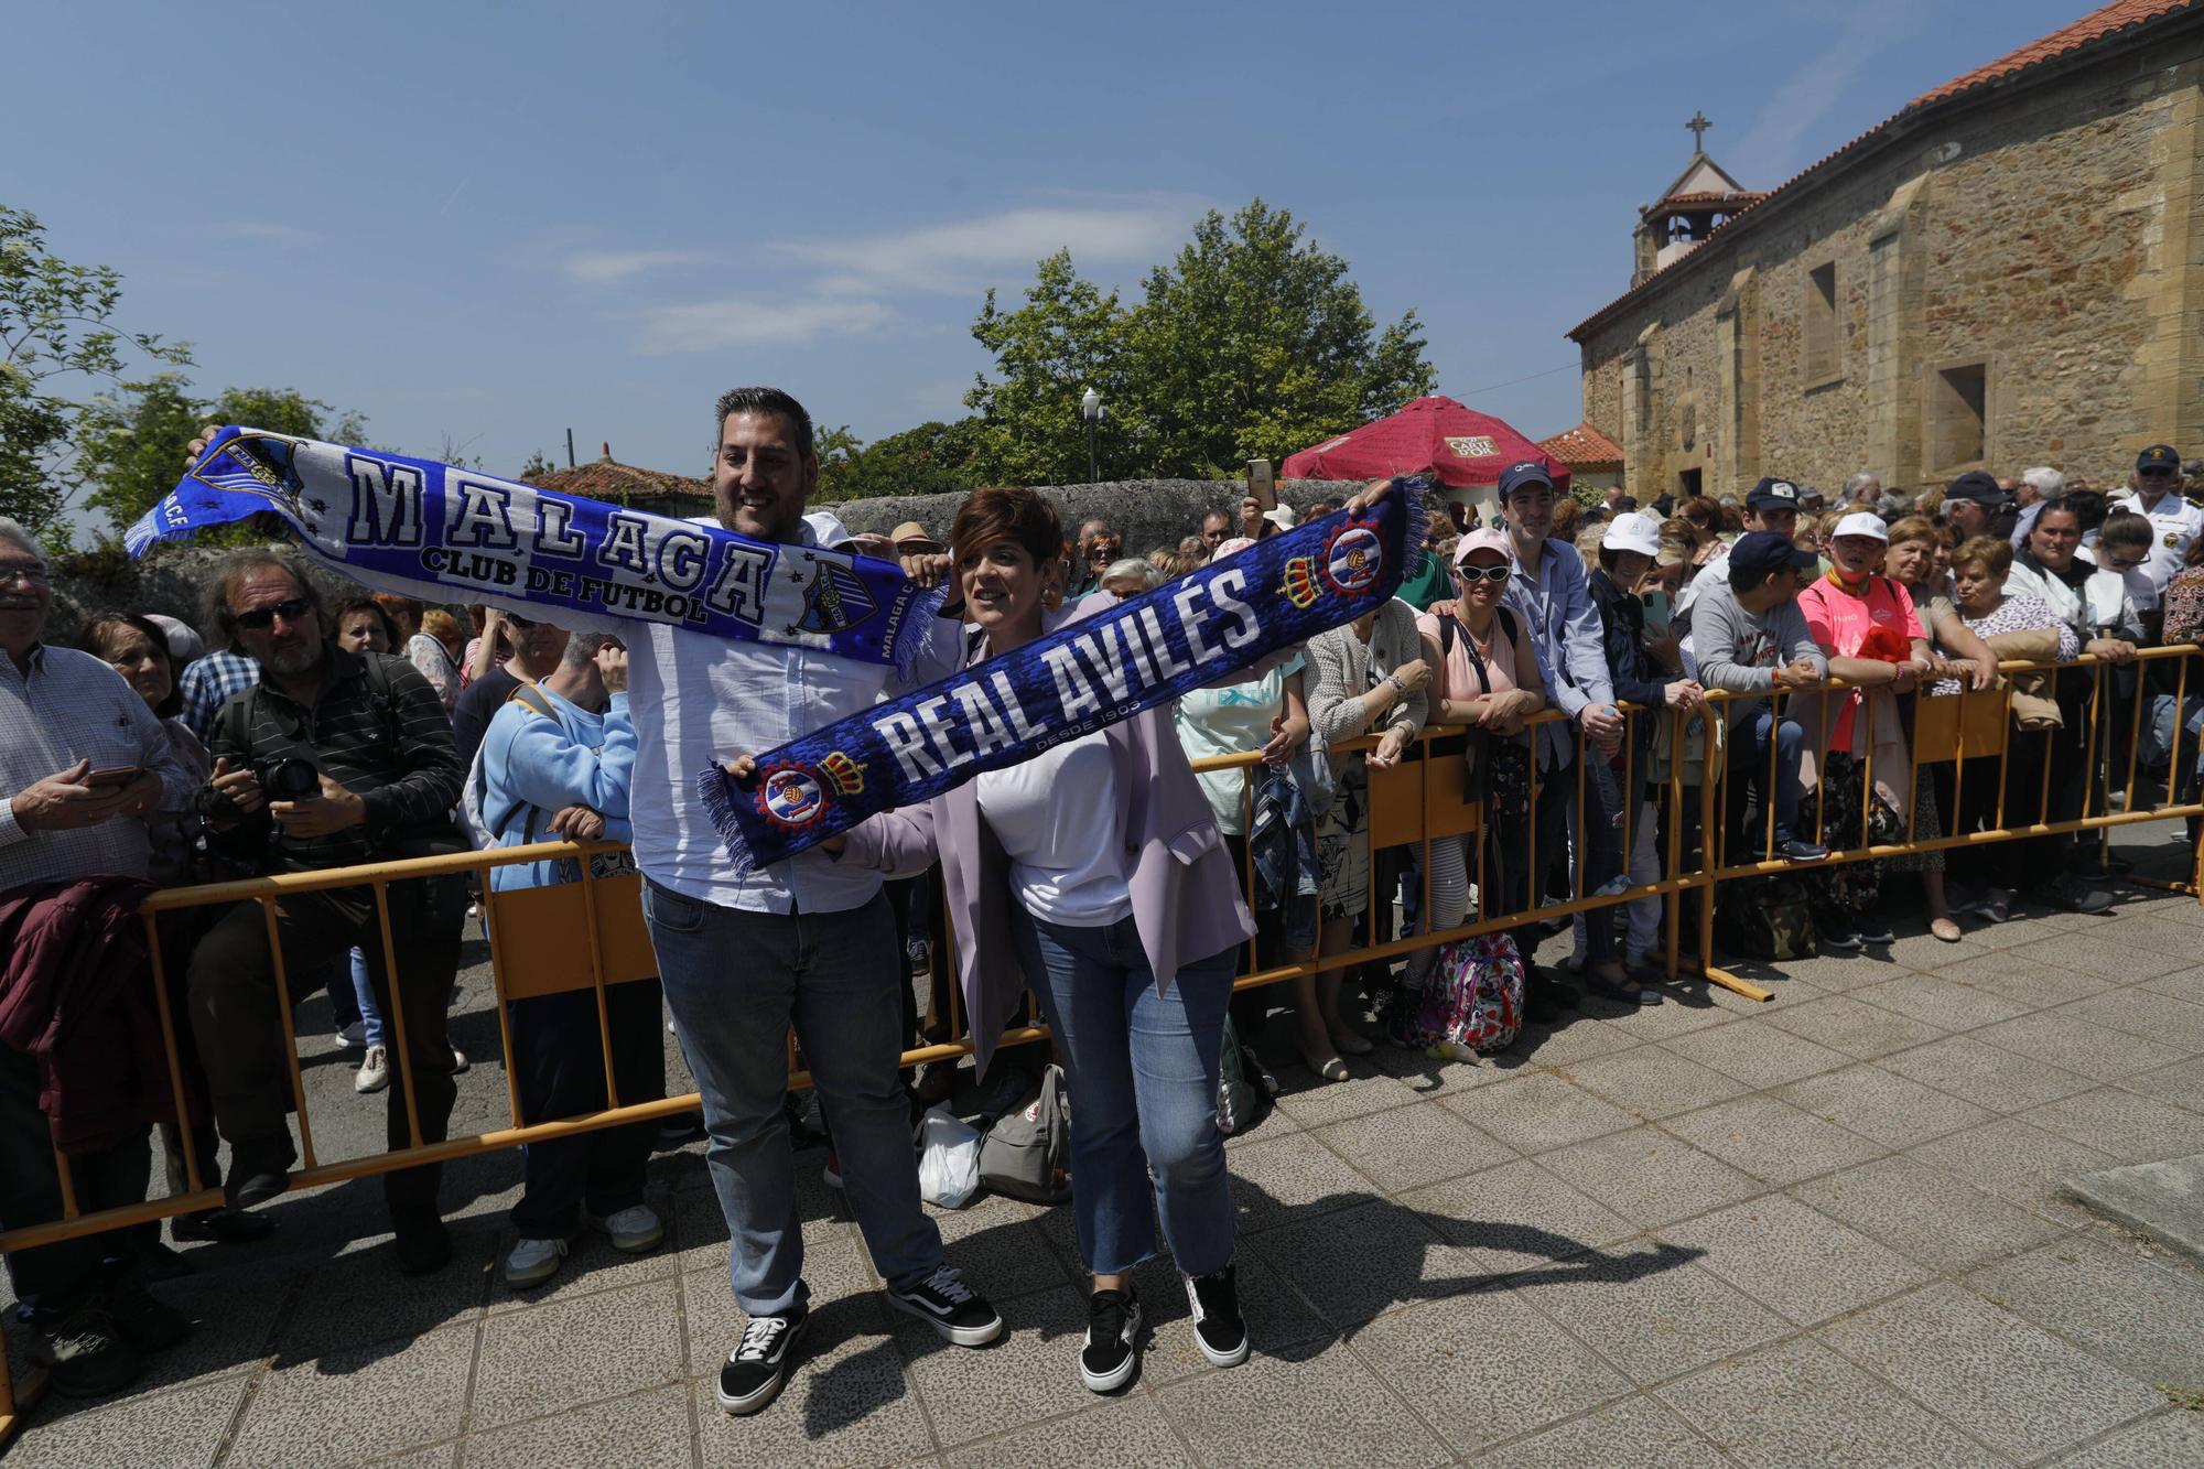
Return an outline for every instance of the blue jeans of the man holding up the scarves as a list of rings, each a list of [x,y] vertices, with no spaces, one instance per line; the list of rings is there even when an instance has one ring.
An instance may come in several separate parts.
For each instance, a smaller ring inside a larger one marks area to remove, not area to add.
[[[818,1087],[873,1268],[906,1290],[941,1266],[897,1063],[908,964],[879,893],[846,913],[749,913],[646,882],[644,922],[681,1054],[703,1094],[705,1167],[727,1218],[734,1301],[809,1304],[782,1098],[789,1023]]]

